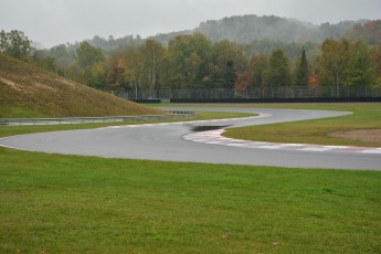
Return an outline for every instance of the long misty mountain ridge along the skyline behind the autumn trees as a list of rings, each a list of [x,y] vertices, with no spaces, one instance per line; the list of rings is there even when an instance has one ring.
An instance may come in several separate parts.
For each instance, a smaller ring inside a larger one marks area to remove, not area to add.
[[[139,35],[126,35],[117,39],[112,35],[108,39],[95,35],[87,41],[105,52],[112,52],[120,46],[141,45],[146,40],[156,40],[162,44],[168,44],[170,40],[178,35],[193,34],[194,32],[201,32],[214,42],[229,40],[239,44],[255,44],[260,41],[272,41],[277,43],[311,42],[318,44],[328,38],[340,39],[346,36],[349,39],[362,39],[364,34],[368,34],[367,36],[369,39],[366,38],[366,41],[374,44],[381,41],[381,39],[373,38],[374,31],[375,33],[380,31],[379,22],[380,21],[363,19],[358,21],[341,21],[336,24],[326,22],[317,25],[296,19],[279,18],[275,15],[257,17],[251,14],[234,15],[221,20],[208,20],[201,22],[198,28],[192,30],[158,33],[147,39],[142,39]],[[371,28],[367,25],[368,23],[371,23]],[[353,31],[356,28],[357,30]],[[73,49],[75,51],[78,43],[68,43],[57,46],[68,46],[72,47],[72,51]],[[59,49],[57,46],[55,47]],[[54,55],[52,55],[52,57],[56,59]],[[65,61],[67,62],[67,60]]]

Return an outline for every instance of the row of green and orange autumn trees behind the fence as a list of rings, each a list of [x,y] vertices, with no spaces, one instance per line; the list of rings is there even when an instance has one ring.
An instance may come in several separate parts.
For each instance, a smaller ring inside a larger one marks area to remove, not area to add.
[[[202,33],[179,35],[168,45],[156,40],[105,52],[88,41],[75,47],[36,50],[20,31],[0,33],[0,52],[115,94],[158,89],[255,87],[381,87],[381,44],[327,39],[319,47],[299,43],[298,55],[283,49],[247,53],[247,45],[212,42]]]

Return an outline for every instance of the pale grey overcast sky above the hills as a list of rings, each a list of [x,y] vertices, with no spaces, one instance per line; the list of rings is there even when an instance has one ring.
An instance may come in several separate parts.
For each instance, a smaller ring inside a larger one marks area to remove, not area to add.
[[[44,47],[94,35],[142,38],[256,14],[315,24],[381,19],[381,0],[0,0],[0,30],[21,30]]]

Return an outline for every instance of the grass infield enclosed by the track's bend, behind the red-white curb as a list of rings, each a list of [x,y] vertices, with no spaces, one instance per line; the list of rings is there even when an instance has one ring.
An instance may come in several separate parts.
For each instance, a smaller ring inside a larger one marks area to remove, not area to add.
[[[330,137],[336,131],[356,129],[381,129],[381,104],[293,104],[293,105],[257,105],[258,107],[288,107],[306,109],[330,109],[351,112],[353,115],[306,120],[297,123],[284,123],[265,126],[251,126],[232,128],[224,133],[224,136],[237,139],[290,142],[290,144],[317,144],[338,146],[364,146],[381,147],[379,141],[361,141],[345,138]]]

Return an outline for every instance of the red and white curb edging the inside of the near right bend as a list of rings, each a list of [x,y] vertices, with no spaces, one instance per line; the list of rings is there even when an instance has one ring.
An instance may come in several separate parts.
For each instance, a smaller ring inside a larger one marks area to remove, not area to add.
[[[226,138],[222,136],[224,129],[207,130],[200,133],[191,133],[182,136],[184,140],[193,142],[203,142],[210,145],[243,147],[256,149],[278,149],[278,150],[298,150],[298,151],[321,151],[321,152],[357,152],[381,155],[381,148],[370,147],[350,147],[350,146],[320,146],[308,144],[277,144],[277,142],[260,142],[247,141],[241,139]]]

